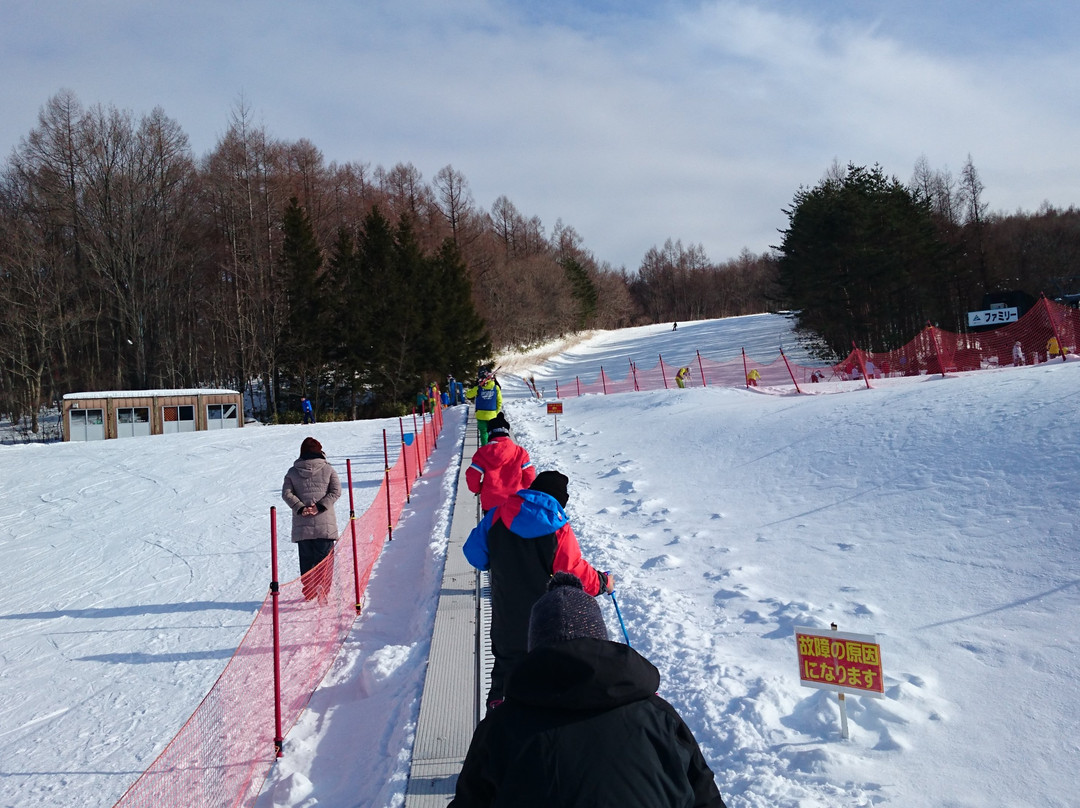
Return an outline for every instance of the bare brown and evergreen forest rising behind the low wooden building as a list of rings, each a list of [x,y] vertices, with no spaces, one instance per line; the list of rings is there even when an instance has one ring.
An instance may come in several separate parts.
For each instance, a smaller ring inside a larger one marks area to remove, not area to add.
[[[453,166],[329,162],[241,102],[202,158],[161,108],[60,91],[0,165],[0,412],[64,393],[229,387],[256,415],[399,412],[494,349],[765,311],[773,256],[667,241],[631,272]],[[772,291],[770,291],[772,289]]]

